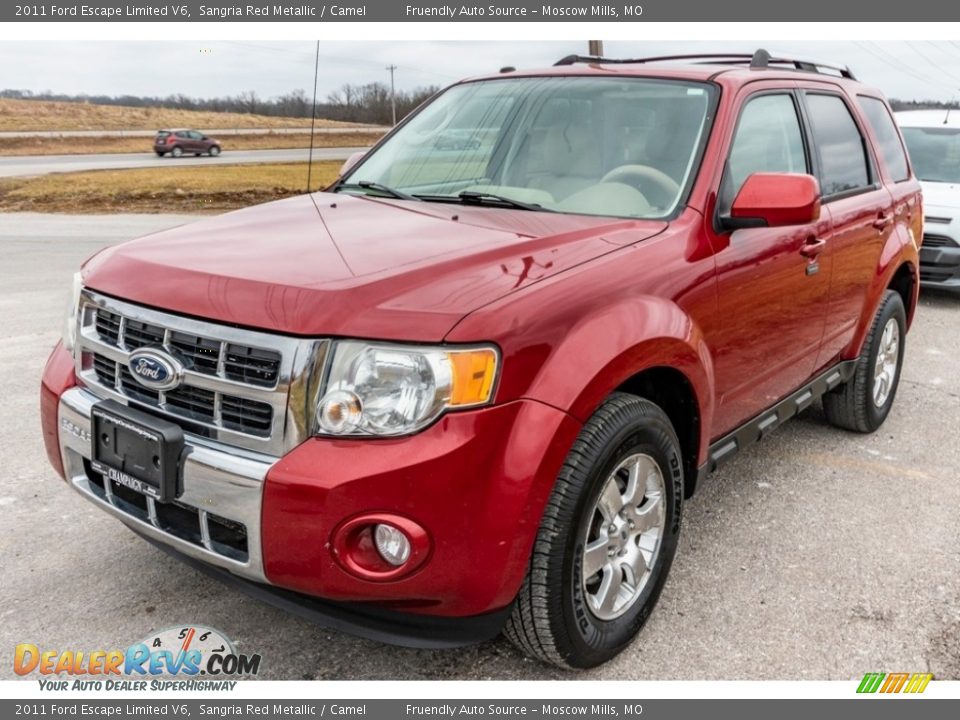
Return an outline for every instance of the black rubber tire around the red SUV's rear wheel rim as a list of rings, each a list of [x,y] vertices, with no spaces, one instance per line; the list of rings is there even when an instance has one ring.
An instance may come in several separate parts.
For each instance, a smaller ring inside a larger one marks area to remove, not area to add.
[[[887,323],[896,322],[898,337],[898,356],[896,373],[890,384],[886,400],[877,405],[873,390],[876,378],[877,355],[880,352],[884,329]],[[871,433],[883,425],[890,414],[893,401],[900,385],[900,370],[903,367],[903,355],[906,349],[907,313],[899,293],[887,290],[877,309],[870,326],[870,332],[863,344],[853,377],[833,392],[823,396],[823,410],[831,425],[854,432]]]

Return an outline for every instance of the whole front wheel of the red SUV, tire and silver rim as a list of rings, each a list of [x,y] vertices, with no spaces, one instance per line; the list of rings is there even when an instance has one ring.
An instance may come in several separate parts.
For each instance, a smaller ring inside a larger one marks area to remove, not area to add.
[[[612,395],[560,471],[507,637],[567,668],[594,667],[620,653],[660,597],[682,498],[670,419],[648,400]]]

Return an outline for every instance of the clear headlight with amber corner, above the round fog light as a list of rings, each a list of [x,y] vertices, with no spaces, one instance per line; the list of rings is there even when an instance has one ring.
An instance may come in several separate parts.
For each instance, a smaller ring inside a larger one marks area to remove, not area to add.
[[[491,347],[415,347],[345,341],[334,345],[317,408],[324,435],[407,435],[445,410],[493,398],[498,355]]]

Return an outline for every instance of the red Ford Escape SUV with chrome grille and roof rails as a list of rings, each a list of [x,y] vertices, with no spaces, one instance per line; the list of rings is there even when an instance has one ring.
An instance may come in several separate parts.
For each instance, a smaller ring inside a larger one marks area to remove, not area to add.
[[[670,60],[453,85],[325,192],[103,250],[43,377],[50,461],[334,627],[610,659],[711,470],[818,398],[880,427],[917,304],[879,92]]]

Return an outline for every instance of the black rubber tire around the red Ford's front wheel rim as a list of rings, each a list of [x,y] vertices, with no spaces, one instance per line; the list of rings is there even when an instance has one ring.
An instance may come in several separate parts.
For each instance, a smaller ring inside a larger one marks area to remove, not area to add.
[[[663,480],[659,549],[633,604],[619,617],[604,620],[586,597],[584,547],[607,481],[624,458],[637,453],[656,463]],[[507,638],[527,654],[563,668],[594,667],[620,653],[660,597],[677,549],[682,498],[680,443],[669,418],[643,398],[611,395],[586,423],[560,470],[504,628]]]

